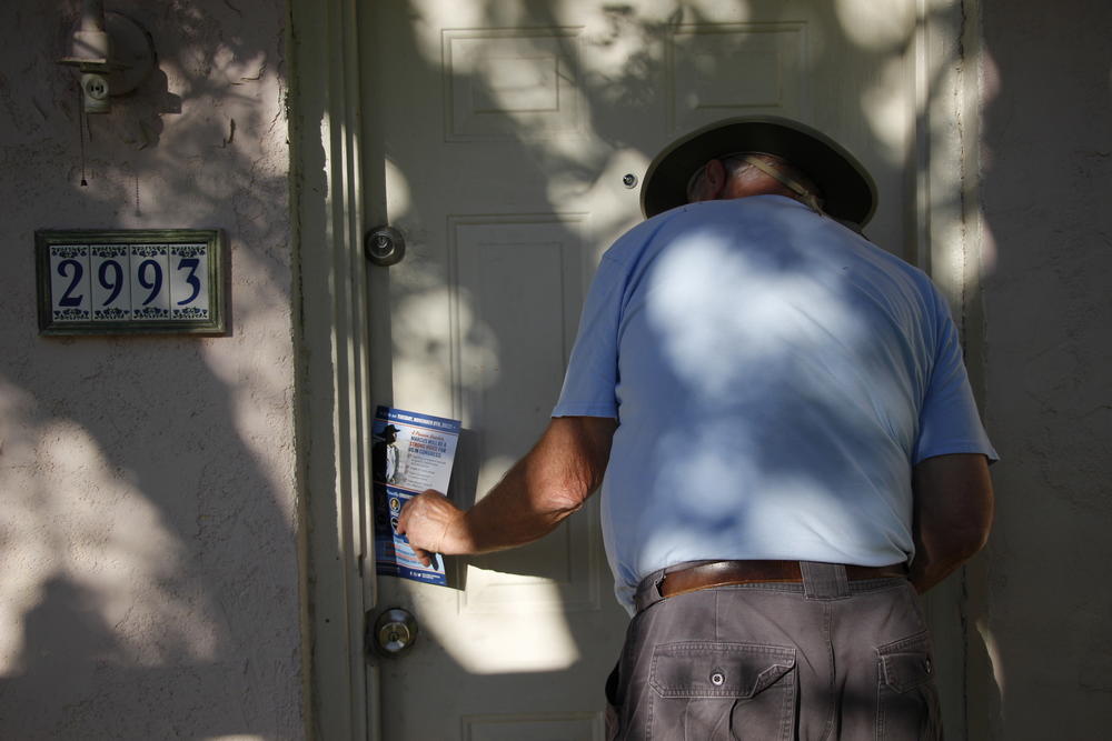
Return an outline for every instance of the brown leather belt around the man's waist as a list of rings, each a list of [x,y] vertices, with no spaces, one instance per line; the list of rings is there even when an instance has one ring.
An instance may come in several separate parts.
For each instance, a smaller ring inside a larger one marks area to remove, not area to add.
[[[858,567],[846,564],[848,581],[863,579],[892,579],[907,575],[907,565],[893,563],[886,567]],[[798,561],[712,561],[671,571],[661,580],[661,597],[675,597],[713,587],[736,587],[765,582],[802,582],[803,571]]]

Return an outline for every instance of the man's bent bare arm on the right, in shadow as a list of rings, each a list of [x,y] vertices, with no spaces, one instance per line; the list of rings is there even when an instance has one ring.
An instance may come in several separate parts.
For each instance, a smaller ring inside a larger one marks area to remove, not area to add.
[[[911,581],[923,593],[984,545],[992,528],[989,464],[981,454],[929,458],[912,472],[915,559]]]

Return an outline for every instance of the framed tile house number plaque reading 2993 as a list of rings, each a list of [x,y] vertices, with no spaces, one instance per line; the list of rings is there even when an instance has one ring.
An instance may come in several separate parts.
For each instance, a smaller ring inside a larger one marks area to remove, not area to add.
[[[224,334],[214,229],[38,231],[42,334]]]

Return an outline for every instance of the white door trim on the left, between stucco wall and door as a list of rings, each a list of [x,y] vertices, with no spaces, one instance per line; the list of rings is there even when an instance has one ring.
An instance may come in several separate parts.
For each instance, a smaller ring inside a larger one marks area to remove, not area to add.
[[[374,739],[370,400],[356,0],[291,0],[298,471],[309,738]]]

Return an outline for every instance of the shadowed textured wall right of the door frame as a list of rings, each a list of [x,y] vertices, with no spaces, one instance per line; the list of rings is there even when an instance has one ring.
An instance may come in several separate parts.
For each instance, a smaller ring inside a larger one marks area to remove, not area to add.
[[[1104,0],[985,0],[982,199],[997,739],[1112,724],[1112,28]],[[980,709],[974,709],[977,712]]]

